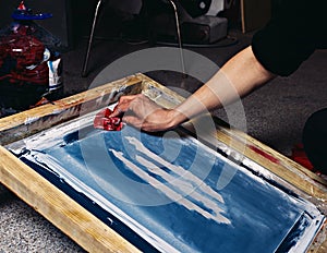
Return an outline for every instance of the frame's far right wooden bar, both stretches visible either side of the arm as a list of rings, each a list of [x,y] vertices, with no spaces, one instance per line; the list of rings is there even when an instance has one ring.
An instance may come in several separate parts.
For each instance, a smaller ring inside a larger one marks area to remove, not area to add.
[[[169,96],[175,98],[174,100],[170,100],[169,103],[167,103],[162,101],[162,99],[159,99],[160,94],[149,95],[149,97],[160,106],[172,108],[185,100],[185,98],[183,98],[182,96],[178,95],[171,89],[162,87],[154,80],[144,77],[144,91],[149,91],[152,87],[157,87],[164,93],[167,93]],[[193,121],[196,120],[199,120],[199,118],[194,119]],[[215,123],[217,125],[217,131],[215,133],[211,133],[213,137],[218,138],[219,142],[222,142],[223,144],[238,150],[240,154],[243,154],[251,160],[267,168],[269,171],[282,178],[295,188],[302,190],[310,196],[314,196],[323,202],[327,202],[327,181],[322,177],[313,173],[308,169],[278,153],[277,150],[270,148],[269,146],[263,144],[262,142],[255,140],[249,134],[230,128],[226,122],[216,119]],[[327,203],[323,204],[326,205]]]

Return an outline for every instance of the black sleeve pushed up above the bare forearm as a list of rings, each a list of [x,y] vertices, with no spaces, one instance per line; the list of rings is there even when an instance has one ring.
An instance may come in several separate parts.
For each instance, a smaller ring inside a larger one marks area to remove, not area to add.
[[[326,0],[284,0],[268,24],[252,40],[263,67],[274,74],[293,73],[316,49]],[[320,4],[320,7],[319,7]],[[319,9],[320,8],[320,9]],[[324,29],[326,31],[326,29]]]

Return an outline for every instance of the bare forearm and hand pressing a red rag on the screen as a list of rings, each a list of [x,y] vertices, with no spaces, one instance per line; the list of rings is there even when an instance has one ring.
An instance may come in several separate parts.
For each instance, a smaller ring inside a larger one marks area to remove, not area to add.
[[[136,128],[150,132],[167,130],[199,113],[227,106],[272,77],[249,47],[229,60],[206,84],[174,109],[164,109],[140,94],[121,97],[112,117],[125,112],[123,120]]]

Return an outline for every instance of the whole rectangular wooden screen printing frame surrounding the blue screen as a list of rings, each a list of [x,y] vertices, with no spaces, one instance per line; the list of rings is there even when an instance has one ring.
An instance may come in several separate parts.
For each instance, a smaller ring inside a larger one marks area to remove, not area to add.
[[[135,74],[53,104],[0,119],[1,183],[90,252],[136,252],[138,250],[19,160],[5,146],[81,115],[98,110],[117,101],[123,94],[138,93],[146,94],[164,107],[173,107],[184,99],[146,75]],[[241,153],[251,164],[252,169],[255,169],[255,165],[264,167],[274,181],[315,204],[324,215],[327,214],[325,203],[327,201],[327,183],[325,180],[247,134],[229,128],[219,119],[216,123],[217,132],[208,134],[208,138],[204,140],[206,144],[210,145],[215,140],[215,143],[218,141],[221,152],[226,154]],[[192,131],[190,123],[183,126]],[[237,157],[231,158],[237,159]],[[262,173],[263,171],[257,172]],[[323,226],[310,251],[325,252],[326,249],[326,226]]]

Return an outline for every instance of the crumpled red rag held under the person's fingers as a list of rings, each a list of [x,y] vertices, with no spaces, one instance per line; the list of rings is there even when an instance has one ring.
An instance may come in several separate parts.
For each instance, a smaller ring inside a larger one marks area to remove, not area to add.
[[[99,111],[93,122],[94,128],[102,129],[107,131],[120,131],[123,126],[122,120],[120,117],[110,117],[112,110],[106,108]]]

